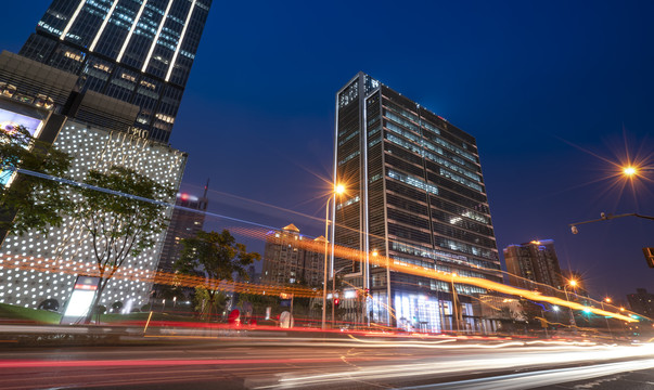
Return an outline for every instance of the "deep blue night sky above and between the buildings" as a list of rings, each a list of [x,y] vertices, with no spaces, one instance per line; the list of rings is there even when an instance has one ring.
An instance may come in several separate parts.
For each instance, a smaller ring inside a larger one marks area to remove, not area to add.
[[[18,52],[48,5],[2,1],[0,49]],[[477,139],[500,253],[552,238],[594,297],[654,291],[654,221],[568,226],[654,216],[652,15],[651,1],[215,0],[170,140],[189,153],[182,188],[210,178],[210,211],[322,234],[335,92],[363,70]],[[627,156],[650,167],[633,187],[616,177]]]

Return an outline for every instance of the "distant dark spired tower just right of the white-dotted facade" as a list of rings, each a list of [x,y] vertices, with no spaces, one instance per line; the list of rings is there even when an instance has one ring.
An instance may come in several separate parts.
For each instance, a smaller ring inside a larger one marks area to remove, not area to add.
[[[164,249],[159,260],[158,270],[172,272],[172,265],[179,259],[183,238],[195,237],[195,234],[204,226],[205,211],[208,205],[207,185],[204,187],[202,197],[190,194],[177,194],[175,210],[170,218],[170,224],[166,231]]]

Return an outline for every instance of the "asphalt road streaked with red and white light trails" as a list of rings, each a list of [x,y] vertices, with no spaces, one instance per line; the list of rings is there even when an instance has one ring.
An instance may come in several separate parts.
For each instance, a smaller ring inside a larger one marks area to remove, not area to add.
[[[654,389],[651,344],[184,341],[0,346],[0,389]]]

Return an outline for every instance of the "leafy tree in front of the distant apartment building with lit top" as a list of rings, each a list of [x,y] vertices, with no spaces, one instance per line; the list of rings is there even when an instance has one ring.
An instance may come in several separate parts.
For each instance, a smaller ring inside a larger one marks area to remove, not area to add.
[[[215,307],[217,292],[221,281],[232,282],[234,274],[240,280],[248,280],[247,266],[255,260],[260,260],[257,252],[248,252],[244,244],[236,239],[226,229],[221,233],[200,231],[192,238],[181,240],[182,250],[175,269],[180,273],[194,275],[195,269],[203,269],[208,276],[203,285],[208,294],[209,304],[205,306],[205,313],[210,317]]]

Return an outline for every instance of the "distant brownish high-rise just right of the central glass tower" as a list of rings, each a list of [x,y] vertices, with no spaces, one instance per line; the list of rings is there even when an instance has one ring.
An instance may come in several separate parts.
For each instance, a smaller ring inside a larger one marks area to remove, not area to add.
[[[561,266],[552,239],[509,245],[503,252],[509,284],[529,290],[538,289],[544,294],[552,291],[543,291],[542,285],[563,288]]]

